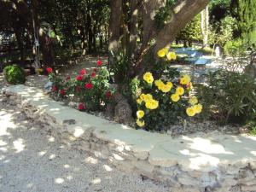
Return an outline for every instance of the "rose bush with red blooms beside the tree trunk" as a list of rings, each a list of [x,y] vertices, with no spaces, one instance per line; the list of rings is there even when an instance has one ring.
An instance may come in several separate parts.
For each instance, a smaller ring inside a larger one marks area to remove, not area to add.
[[[53,82],[52,92],[61,98],[73,96],[74,102],[79,102],[81,111],[99,111],[112,101],[113,89],[110,88],[109,73],[102,61],[97,62],[98,67],[90,71],[82,69],[75,78],[62,79],[53,72],[49,79]]]

